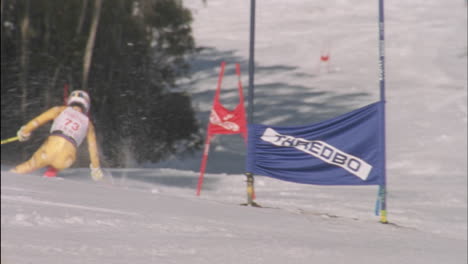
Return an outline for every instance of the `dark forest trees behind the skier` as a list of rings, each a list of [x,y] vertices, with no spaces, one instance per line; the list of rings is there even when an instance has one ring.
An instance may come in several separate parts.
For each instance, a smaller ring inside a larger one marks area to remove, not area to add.
[[[2,139],[81,89],[91,96],[106,167],[200,146],[190,96],[176,85],[197,52],[181,1],[2,0],[1,23]],[[2,164],[26,159],[48,129],[31,143],[3,145]],[[75,166],[87,166],[87,152],[79,153]]]

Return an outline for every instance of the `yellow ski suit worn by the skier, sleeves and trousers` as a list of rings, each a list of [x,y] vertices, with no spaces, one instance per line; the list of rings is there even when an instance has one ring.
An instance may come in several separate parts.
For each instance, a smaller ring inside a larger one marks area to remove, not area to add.
[[[38,127],[57,118],[67,108],[68,106],[53,107],[29,121],[20,131],[24,135],[30,135]],[[96,133],[91,122],[88,123],[86,138],[91,160],[90,167],[91,169],[100,168]],[[70,167],[75,162],[76,149],[77,146],[72,141],[66,137],[52,133],[28,161],[16,166],[12,171],[16,173],[29,173],[45,166],[51,166],[57,171],[61,171]]]

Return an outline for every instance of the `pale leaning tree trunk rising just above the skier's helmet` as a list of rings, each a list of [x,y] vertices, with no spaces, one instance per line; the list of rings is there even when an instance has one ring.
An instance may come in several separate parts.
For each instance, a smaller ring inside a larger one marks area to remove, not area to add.
[[[102,0],[94,0],[94,13],[93,13],[93,22],[91,24],[91,30],[89,32],[88,43],[86,44],[86,51],[83,62],[83,80],[81,83],[81,88],[83,90],[88,89],[88,76],[89,68],[91,66],[91,60],[93,56],[94,42],[96,39],[97,27],[99,24],[99,17],[101,15],[101,6]]]

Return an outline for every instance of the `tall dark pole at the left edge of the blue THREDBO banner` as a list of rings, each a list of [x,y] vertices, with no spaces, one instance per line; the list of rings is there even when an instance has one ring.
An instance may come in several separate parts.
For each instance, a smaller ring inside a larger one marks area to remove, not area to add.
[[[255,0],[250,0],[250,45],[249,45],[249,98],[248,123],[253,124],[254,113],[254,74],[255,74]],[[247,205],[255,206],[254,175],[246,172],[247,176]]]

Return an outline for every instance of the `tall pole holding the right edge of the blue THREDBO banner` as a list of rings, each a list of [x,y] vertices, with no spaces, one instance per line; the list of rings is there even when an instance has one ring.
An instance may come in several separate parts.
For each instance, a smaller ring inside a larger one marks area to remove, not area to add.
[[[380,222],[388,223],[387,220],[387,176],[386,176],[386,133],[385,133],[385,31],[384,31],[384,0],[379,0],[379,74],[380,74],[380,148],[382,150],[382,174],[383,182],[379,186],[380,197]]]

